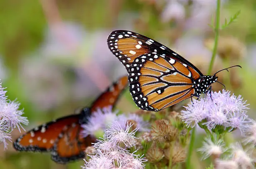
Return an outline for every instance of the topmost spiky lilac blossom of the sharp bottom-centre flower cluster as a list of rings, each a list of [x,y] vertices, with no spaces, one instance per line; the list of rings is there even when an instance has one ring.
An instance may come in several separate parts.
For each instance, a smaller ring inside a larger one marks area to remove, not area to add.
[[[110,142],[113,142],[115,145],[120,145],[123,143],[126,147],[133,147],[135,145],[135,133],[138,129],[134,129],[131,131],[131,127],[133,124],[126,123],[125,125],[121,126],[117,122],[109,128],[106,129],[105,133],[108,135]]]

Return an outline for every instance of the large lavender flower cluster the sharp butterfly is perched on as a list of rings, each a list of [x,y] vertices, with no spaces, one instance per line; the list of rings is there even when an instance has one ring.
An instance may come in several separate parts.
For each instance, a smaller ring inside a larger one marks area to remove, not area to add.
[[[207,93],[198,100],[193,99],[181,115],[188,127],[195,127],[200,123],[209,129],[222,126],[229,132],[240,129],[243,133],[250,123],[246,115],[247,106],[241,95],[236,97],[223,89],[222,92]]]

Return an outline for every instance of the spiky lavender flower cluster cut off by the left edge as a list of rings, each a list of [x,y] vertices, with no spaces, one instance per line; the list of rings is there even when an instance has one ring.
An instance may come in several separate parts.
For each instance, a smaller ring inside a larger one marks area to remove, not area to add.
[[[22,124],[28,124],[26,117],[23,117],[23,110],[19,110],[20,104],[10,101],[5,96],[6,91],[0,84],[0,143],[7,148],[7,140],[11,141],[10,132],[14,128],[23,129]]]

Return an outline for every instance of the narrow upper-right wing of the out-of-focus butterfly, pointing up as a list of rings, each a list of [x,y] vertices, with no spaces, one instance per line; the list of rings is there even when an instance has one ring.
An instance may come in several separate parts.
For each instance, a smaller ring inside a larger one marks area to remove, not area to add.
[[[108,89],[92,103],[91,111],[94,112],[98,108],[102,109],[103,107],[114,106],[127,84],[128,76],[123,76],[118,79],[117,82],[114,82],[108,87]]]

